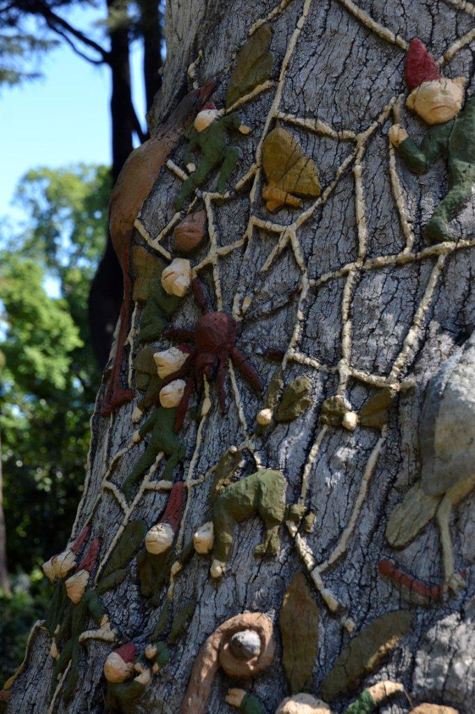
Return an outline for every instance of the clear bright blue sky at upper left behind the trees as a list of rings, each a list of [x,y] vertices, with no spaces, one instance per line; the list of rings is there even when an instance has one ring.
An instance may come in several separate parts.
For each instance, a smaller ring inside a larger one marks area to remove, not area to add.
[[[81,11],[68,19],[86,27],[95,17]],[[9,204],[16,183],[29,169],[110,161],[108,68],[88,64],[61,44],[44,57],[41,71],[44,79],[1,90],[0,217],[16,216]],[[145,125],[137,43],[133,46],[132,75],[136,111]]]

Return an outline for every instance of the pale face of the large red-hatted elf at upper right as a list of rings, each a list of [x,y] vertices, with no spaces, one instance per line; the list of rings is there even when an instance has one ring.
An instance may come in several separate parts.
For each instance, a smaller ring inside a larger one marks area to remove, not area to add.
[[[454,119],[464,104],[465,77],[422,82],[407,98],[407,107],[427,124],[443,124]]]

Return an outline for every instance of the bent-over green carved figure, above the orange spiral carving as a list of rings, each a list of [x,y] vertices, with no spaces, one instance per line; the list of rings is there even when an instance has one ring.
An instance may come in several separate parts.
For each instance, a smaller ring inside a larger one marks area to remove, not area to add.
[[[258,558],[266,554],[278,555],[280,526],[286,518],[298,521],[302,515],[300,506],[287,508],[286,489],[287,481],[282,472],[272,469],[261,469],[223,488],[213,506],[215,545],[210,571],[213,578],[220,578],[224,573],[233,545],[235,524],[257,514],[264,521],[265,538],[255,548],[255,555]]]

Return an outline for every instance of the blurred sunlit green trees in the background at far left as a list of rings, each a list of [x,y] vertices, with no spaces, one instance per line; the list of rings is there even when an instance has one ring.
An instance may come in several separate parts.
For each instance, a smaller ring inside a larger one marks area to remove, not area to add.
[[[0,236],[0,427],[12,572],[68,540],[100,380],[87,296],[106,238],[103,166],[29,171],[21,230]],[[51,296],[45,285],[54,286]]]

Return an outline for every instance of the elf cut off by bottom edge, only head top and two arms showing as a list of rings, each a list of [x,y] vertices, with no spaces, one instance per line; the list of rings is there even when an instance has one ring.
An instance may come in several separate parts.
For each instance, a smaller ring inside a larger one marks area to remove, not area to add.
[[[371,714],[391,695],[403,691],[402,684],[389,681],[378,682],[365,689],[349,705],[345,714]],[[248,694],[243,689],[228,689],[226,702],[244,712],[244,714],[265,714],[265,709],[257,697]],[[301,693],[284,699],[275,710],[275,714],[332,714],[332,710],[321,699],[317,699],[310,694]]]

